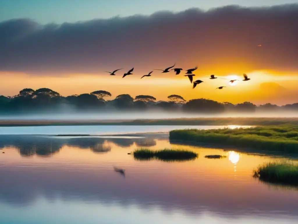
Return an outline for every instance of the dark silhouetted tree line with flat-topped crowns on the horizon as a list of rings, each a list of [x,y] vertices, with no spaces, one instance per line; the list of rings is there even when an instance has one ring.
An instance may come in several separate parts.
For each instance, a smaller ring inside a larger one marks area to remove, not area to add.
[[[59,112],[72,111],[100,111],[100,110],[147,110],[163,109],[169,111],[185,111],[197,113],[223,113],[223,112],[254,112],[257,110],[278,111],[280,109],[298,110],[298,103],[277,106],[274,104],[254,105],[251,102],[232,104],[229,102],[217,102],[211,99],[185,100],[179,95],[168,96],[167,101],[156,101],[149,95],[132,97],[129,94],[121,94],[112,100],[106,100],[112,94],[97,90],[80,95],[61,96],[60,93],[40,88],[33,90],[22,89],[15,96],[0,96],[1,113],[32,113],[32,112]]]

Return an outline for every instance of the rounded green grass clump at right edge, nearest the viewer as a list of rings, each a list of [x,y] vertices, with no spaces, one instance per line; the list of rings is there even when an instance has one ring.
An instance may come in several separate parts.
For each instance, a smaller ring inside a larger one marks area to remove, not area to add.
[[[292,162],[269,162],[254,171],[254,177],[265,182],[298,186],[298,164]]]

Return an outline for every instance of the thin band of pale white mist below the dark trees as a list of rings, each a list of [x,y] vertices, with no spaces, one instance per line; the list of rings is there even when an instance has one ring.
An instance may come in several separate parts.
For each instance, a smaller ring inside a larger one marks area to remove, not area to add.
[[[182,111],[85,111],[58,113],[2,114],[0,120],[135,120],[135,119],[175,119],[175,118],[226,118],[226,117],[298,117],[297,111],[256,111],[225,113],[186,113]]]

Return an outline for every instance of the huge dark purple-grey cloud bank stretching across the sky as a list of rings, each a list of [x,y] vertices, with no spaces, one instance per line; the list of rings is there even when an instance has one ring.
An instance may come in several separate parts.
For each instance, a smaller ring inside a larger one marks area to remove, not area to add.
[[[46,25],[14,19],[0,22],[0,33],[0,71],[99,73],[173,62],[202,69],[229,66],[231,72],[234,67],[298,70],[298,4]]]

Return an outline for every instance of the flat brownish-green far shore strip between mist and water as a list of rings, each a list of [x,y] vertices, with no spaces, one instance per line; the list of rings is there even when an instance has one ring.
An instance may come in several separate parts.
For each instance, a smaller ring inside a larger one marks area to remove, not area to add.
[[[115,120],[1,120],[0,127],[26,126],[88,126],[88,125],[282,125],[297,124],[298,118],[177,118],[177,119],[115,119]]]

